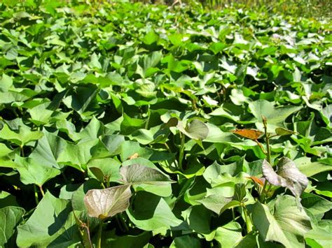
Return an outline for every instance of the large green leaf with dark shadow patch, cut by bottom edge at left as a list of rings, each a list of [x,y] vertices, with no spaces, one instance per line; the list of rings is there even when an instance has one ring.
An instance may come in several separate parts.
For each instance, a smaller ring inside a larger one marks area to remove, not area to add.
[[[79,242],[74,215],[67,200],[55,198],[50,192],[31,217],[18,226],[19,247],[68,247]]]

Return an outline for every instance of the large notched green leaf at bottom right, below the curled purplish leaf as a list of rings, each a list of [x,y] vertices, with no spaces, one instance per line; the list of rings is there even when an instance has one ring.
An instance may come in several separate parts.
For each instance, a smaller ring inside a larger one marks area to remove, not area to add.
[[[310,217],[292,196],[278,196],[273,214],[267,205],[257,202],[252,219],[264,241],[280,242],[285,247],[304,247],[304,235],[312,229]]]

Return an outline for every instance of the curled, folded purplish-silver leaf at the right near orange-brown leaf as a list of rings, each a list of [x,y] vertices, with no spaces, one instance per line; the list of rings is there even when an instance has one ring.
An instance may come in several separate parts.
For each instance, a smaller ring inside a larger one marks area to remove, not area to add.
[[[277,173],[268,161],[263,161],[263,175],[275,186],[286,187],[294,196],[300,196],[307,187],[309,180],[298,170],[296,164],[287,157],[282,157],[277,165]]]

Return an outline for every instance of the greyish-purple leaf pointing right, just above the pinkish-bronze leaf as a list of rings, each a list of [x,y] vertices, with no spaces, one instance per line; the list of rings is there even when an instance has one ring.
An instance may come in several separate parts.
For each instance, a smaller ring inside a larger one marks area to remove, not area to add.
[[[164,173],[154,168],[141,166],[138,163],[120,168],[120,175],[125,184],[155,184],[162,185],[174,182]]]

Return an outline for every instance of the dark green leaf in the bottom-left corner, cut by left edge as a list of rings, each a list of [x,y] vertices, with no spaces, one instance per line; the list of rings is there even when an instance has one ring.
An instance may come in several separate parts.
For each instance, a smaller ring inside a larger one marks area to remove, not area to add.
[[[15,228],[23,219],[22,207],[4,207],[0,209],[0,246],[15,247]]]

